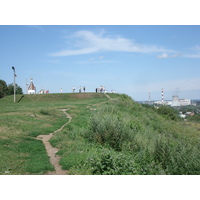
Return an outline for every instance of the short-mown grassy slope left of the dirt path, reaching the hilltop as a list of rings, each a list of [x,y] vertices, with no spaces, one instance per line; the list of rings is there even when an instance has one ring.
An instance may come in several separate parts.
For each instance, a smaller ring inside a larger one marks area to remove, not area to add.
[[[21,99],[21,100],[20,100]],[[53,170],[41,141],[66,123],[59,108],[82,108],[106,101],[101,94],[47,94],[0,99],[0,174],[44,174]]]

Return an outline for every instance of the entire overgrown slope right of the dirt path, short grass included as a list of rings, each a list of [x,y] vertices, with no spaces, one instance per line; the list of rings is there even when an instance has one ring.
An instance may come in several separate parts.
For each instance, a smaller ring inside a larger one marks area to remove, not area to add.
[[[74,119],[51,143],[71,174],[200,174],[197,130],[166,120],[125,95],[71,110]]]

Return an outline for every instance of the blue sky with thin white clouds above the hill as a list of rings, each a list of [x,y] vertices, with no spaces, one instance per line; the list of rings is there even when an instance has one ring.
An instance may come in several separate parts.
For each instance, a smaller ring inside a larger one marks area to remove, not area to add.
[[[200,26],[0,26],[0,79],[26,93],[26,79],[50,93],[108,91],[134,100],[200,99]]]

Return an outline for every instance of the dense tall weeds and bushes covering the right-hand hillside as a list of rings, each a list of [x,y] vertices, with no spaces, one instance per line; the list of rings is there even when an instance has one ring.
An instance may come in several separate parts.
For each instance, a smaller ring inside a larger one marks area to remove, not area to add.
[[[112,150],[90,158],[92,173],[199,174],[198,144],[192,145],[176,120],[173,108],[142,107],[126,96],[102,105],[83,136]]]

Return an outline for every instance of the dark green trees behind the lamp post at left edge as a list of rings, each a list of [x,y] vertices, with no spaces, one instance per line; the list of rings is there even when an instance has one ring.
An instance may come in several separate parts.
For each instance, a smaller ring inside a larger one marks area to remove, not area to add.
[[[0,79],[0,98],[6,95],[14,94],[14,84],[7,84],[4,80]],[[16,94],[23,94],[22,88],[16,84]]]

